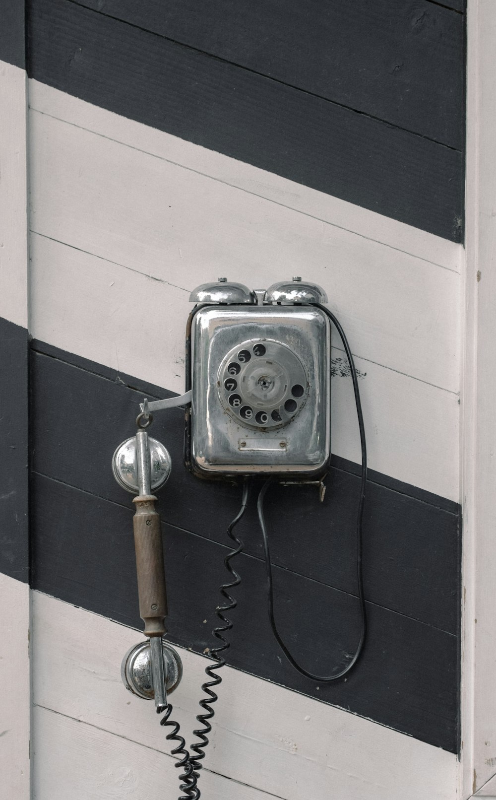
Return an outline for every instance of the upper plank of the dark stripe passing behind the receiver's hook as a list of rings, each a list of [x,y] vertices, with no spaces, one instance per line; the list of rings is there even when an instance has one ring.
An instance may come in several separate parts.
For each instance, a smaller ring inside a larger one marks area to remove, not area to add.
[[[110,461],[118,444],[134,434],[143,396],[138,382],[129,376],[123,382],[122,376],[105,367],[53,347],[48,350],[50,355],[33,353],[34,469],[99,497],[126,503],[126,495],[114,482]],[[78,366],[62,362],[58,355],[74,358]],[[168,394],[158,387],[141,388],[150,398]],[[218,511],[234,516],[238,488],[202,482],[184,469],[181,410],[157,414],[151,433],[164,442],[173,459],[171,477],[160,493],[162,517],[174,526],[222,541]],[[354,593],[358,478],[333,467],[327,484],[322,505],[315,488],[274,487],[267,498],[274,561]],[[401,487],[398,483],[397,489]],[[430,498],[426,493],[426,499]],[[458,633],[458,514],[369,482],[364,528],[367,598]],[[246,535],[247,552],[260,557],[254,510],[240,530]]]

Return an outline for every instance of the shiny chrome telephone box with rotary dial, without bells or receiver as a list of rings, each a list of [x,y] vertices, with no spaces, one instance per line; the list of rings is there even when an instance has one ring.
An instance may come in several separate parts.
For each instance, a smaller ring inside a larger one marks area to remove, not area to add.
[[[186,463],[203,478],[315,477],[330,458],[330,323],[313,306],[202,306]]]

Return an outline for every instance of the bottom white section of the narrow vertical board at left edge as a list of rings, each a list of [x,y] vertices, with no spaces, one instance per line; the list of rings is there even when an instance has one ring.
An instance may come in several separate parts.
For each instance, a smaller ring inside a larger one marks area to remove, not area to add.
[[[30,798],[30,590],[0,573],[0,775],[5,798]]]

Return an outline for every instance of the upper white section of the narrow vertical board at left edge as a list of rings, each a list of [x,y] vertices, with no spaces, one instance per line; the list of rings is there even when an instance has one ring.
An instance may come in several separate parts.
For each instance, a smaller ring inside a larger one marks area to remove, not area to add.
[[[0,317],[27,328],[26,72],[0,61]]]

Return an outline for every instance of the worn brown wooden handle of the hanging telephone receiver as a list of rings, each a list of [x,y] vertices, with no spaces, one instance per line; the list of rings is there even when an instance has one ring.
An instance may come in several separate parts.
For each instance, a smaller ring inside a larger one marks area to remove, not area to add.
[[[134,550],[138,574],[139,615],[145,623],[145,636],[163,636],[167,615],[166,575],[162,549],[160,515],[155,511],[153,494],[134,498]]]

